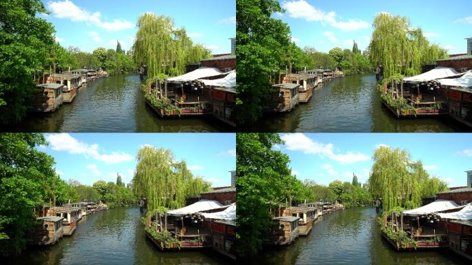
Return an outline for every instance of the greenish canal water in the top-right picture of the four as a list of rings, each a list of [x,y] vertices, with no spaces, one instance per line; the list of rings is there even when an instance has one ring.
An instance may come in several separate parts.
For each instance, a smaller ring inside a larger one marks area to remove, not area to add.
[[[318,86],[307,104],[267,115],[244,131],[324,133],[415,133],[470,130],[449,117],[397,119],[380,101],[375,75],[340,77]]]

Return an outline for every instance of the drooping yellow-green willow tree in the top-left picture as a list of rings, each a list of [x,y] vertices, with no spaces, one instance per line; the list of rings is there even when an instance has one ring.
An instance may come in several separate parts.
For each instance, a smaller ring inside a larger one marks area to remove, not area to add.
[[[209,51],[195,46],[184,28],[176,28],[170,17],[145,13],[139,17],[135,61],[148,66],[148,77],[181,75],[188,63],[208,57]],[[198,55],[198,56],[195,56]]]

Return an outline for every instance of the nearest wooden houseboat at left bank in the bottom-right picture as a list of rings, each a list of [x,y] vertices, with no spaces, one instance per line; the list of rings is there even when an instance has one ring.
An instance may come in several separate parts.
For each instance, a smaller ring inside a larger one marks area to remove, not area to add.
[[[299,236],[298,219],[299,217],[295,216],[274,217],[275,224],[269,231],[268,244],[292,244]]]

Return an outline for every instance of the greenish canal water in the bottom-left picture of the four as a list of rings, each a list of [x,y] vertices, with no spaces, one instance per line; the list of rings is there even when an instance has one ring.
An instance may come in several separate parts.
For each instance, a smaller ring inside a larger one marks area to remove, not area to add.
[[[144,235],[139,208],[102,210],[54,246],[29,248],[6,264],[227,264],[214,251],[161,252]]]

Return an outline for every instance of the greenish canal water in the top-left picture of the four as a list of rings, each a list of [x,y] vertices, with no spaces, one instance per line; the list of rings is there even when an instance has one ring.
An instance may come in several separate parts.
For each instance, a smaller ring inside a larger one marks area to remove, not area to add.
[[[213,117],[161,119],[146,106],[139,75],[104,77],[81,86],[71,104],[55,112],[29,115],[13,132],[221,132],[228,129]],[[234,129],[233,129],[234,130]]]

